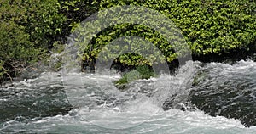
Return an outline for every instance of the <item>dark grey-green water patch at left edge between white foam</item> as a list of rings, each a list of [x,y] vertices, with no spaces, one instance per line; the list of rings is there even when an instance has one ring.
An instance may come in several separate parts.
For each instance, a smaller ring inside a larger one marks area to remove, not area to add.
[[[4,122],[67,114],[73,108],[59,87],[35,90],[20,87],[0,89],[0,109],[0,122]]]

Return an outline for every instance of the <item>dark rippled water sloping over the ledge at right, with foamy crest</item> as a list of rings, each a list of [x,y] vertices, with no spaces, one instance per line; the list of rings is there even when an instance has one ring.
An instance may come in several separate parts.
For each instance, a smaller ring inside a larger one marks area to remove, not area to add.
[[[256,126],[256,63],[207,64],[195,77],[189,102],[212,116]]]

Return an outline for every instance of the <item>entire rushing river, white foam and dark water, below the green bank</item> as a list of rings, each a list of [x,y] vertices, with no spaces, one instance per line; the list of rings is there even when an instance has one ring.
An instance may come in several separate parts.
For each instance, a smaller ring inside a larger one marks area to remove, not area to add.
[[[63,76],[44,72],[34,79],[4,85],[0,88],[0,133],[256,132],[255,124],[246,127],[240,118],[221,114],[235,105],[233,113],[237,110],[244,116],[239,111],[247,108],[245,112],[255,117],[256,111],[249,108],[256,102],[256,63],[251,60],[188,62],[175,75],[132,81],[122,90],[113,86],[119,78],[118,73]],[[241,85],[244,88],[238,90]],[[231,90],[238,90],[239,95],[224,96]],[[242,97],[247,99],[238,99]],[[222,109],[207,107],[212,103]]]

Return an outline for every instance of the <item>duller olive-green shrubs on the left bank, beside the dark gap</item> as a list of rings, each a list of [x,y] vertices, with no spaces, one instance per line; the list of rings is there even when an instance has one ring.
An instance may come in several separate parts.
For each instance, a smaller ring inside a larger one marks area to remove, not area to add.
[[[66,20],[57,0],[4,0],[0,2],[0,77],[17,75],[39,59]]]

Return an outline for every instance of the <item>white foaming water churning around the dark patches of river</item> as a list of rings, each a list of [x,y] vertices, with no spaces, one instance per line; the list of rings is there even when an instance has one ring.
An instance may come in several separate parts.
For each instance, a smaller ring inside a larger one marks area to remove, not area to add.
[[[250,64],[249,62],[251,61],[245,61],[247,64]],[[18,116],[15,120],[1,123],[0,132],[255,133],[256,126],[246,128],[241,125],[240,120],[221,116],[212,117],[200,110],[164,111],[161,108],[166,98],[174,93],[183,93],[183,99],[186,99],[191,80],[198,71],[198,64],[196,62],[193,64],[193,70],[190,70],[191,64],[186,64],[175,76],[161,75],[160,78],[131,82],[125,92],[120,92],[111,84],[108,85],[109,81],[118,80],[119,75],[73,74],[66,77],[71,81],[70,85],[64,84],[65,91],[68,92],[67,98],[74,107],[68,114],[24,120],[20,120],[23,117]],[[232,68],[232,65],[229,67]],[[77,79],[73,79],[74,75],[84,81],[83,86],[76,84]],[[101,82],[101,86],[97,84],[98,82]],[[104,82],[107,83],[102,87]],[[16,82],[14,86],[4,90],[14,88],[22,92],[47,90],[44,87],[63,87],[61,74],[43,73],[36,79]],[[8,101],[9,98],[5,99]]]

